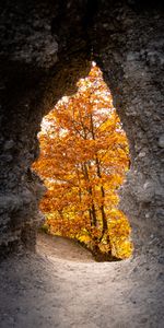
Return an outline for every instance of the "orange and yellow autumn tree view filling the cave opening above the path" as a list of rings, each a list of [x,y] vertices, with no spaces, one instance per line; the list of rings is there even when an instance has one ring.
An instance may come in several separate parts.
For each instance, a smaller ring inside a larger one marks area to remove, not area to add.
[[[128,258],[130,225],[117,208],[130,163],[128,140],[95,62],[77,86],[44,117],[38,136],[34,168],[47,187],[42,230],[79,241],[97,260]]]

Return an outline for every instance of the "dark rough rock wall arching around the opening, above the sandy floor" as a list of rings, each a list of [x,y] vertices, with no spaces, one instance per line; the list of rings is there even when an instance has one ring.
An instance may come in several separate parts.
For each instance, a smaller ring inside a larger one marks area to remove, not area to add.
[[[163,11],[160,2],[2,0],[0,249],[34,248],[45,189],[31,171],[43,116],[91,60],[104,72],[131,148],[121,190],[138,253],[159,254],[163,208]]]

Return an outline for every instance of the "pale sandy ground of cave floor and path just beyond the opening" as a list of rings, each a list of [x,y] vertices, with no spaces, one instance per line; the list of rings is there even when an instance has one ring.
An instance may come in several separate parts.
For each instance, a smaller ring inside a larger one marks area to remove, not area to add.
[[[162,265],[95,262],[69,239],[39,235],[37,253],[0,266],[0,328],[163,328]]]

